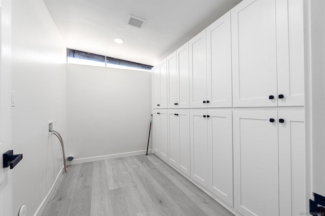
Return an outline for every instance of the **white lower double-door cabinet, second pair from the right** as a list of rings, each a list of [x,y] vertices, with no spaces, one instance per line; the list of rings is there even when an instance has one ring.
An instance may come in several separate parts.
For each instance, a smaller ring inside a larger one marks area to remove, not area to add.
[[[233,206],[231,110],[190,110],[191,178]]]

